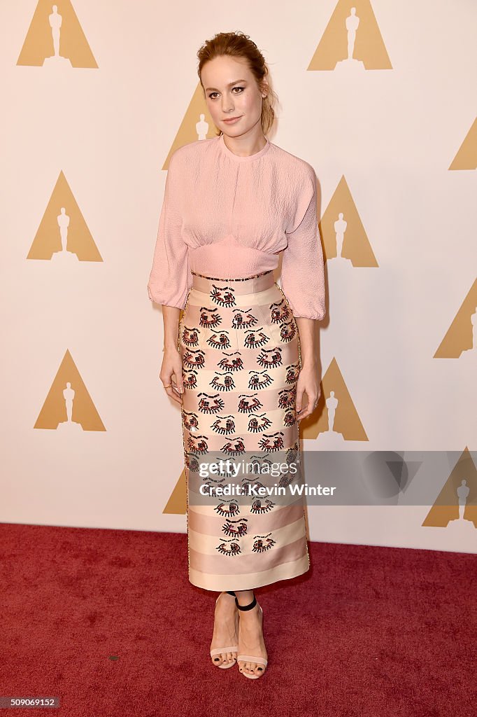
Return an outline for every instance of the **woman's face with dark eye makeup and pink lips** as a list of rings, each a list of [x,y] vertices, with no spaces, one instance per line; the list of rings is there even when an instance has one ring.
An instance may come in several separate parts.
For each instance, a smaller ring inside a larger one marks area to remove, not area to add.
[[[228,137],[241,137],[257,123],[261,130],[261,103],[266,95],[244,60],[214,57],[203,66],[201,80],[208,111],[219,130]],[[235,117],[239,118],[235,122],[224,121]]]

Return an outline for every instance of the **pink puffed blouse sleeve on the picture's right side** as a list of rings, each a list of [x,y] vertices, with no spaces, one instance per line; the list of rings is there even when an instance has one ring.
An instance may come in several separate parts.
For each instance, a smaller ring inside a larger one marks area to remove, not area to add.
[[[317,176],[309,164],[285,234],[288,245],[281,260],[281,289],[295,318],[321,320],[326,312],[324,260],[317,219]]]

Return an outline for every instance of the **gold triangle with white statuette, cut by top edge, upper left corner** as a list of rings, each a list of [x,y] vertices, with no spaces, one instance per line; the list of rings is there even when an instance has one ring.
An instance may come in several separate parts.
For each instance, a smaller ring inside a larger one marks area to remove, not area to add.
[[[97,68],[70,0],[39,0],[16,64]]]

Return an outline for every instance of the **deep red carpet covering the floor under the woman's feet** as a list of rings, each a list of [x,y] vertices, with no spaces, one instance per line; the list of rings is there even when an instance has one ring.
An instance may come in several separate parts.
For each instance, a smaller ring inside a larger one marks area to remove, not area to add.
[[[476,715],[476,556],[309,543],[307,574],[256,591],[269,666],[246,680],[211,663],[216,593],[189,583],[186,535],[0,536],[1,696],[67,717]]]

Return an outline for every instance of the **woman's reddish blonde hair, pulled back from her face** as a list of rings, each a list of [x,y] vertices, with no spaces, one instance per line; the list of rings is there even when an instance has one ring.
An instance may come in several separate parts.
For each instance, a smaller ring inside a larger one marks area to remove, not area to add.
[[[261,129],[264,135],[267,136],[274,124],[276,117],[274,101],[278,100],[278,98],[274,90],[271,89],[269,68],[266,65],[264,56],[249,35],[243,32],[218,32],[212,39],[206,40],[202,47],[198,49],[197,74],[201,81],[204,97],[206,92],[201,80],[202,68],[209,60],[223,55],[241,57],[245,60],[256,79],[259,90],[266,92],[266,97],[263,98],[261,105]],[[268,81],[268,87],[264,84],[265,78]],[[222,130],[218,130],[217,136],[221,134],[223,134]]]

